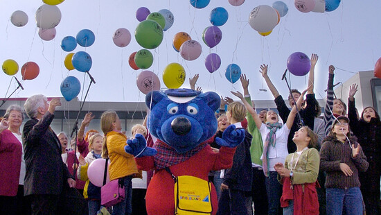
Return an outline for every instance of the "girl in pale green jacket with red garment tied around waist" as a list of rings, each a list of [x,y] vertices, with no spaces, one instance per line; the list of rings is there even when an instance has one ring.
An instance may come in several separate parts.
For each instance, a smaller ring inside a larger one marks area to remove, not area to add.
[[[296,152],[287,155],[284,166],[282,163],[275,165],[283,182],[281,206],[284,215],[319,214],[316,180],[320,157],[316,149],[317,139],[308,126],[301,127],[292,138]]]

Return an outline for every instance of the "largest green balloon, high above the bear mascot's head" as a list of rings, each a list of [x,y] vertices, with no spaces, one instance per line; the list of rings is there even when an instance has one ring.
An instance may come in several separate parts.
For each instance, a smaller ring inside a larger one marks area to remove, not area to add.
[[[163,41],[163,28],[152,20],[144,20],[135,30],[135,39],[145,49],[155,49]]]

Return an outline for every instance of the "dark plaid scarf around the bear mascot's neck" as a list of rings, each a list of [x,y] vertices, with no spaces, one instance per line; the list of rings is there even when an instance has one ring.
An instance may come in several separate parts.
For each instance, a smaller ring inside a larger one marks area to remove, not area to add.
[[[175,148],[168,146],[163,141],[159,139],[154,143],[154,147],[157,150],[157,154],[154,155],[154,165],[159,169],[164,169],[168,166],[173,166],[175,164],[179,164],[188,160],[193,155],[197,154],[200,150],[202,150],[207,144],[202,143],[195,148],[187,151],[186,153],[177,153]]]

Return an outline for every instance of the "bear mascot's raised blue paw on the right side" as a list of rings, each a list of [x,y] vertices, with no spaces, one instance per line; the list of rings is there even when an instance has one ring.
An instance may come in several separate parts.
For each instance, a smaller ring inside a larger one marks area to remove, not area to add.
[[[245,139],[245,130],[236,130],[236,126],[230,125],[222,133],[222,138],[215,138],[215,142],[217,142],[217,144],[220,146],[234,148],[238,146],[240,143],[242,143],[243,139]]]

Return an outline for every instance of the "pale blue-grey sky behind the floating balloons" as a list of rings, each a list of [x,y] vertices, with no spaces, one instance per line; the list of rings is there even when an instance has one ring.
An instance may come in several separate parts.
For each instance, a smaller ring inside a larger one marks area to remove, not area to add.
[[[242,6],[231,6],[228,0],[211,0],[209,6],[193,8],[188,0],[66,0],[60,5],[62,19],[56,26],[54,40],[43,41],[38,35],[35,11],[42,6],[37,0],[1,0],[0,8],[0,62],[16,60],[21,66],[27,61],[36,62],[40,73],[34,80],[22,80],[24,90],[19,89],[12,97],[28,97],[33,94],[62,96],[60,83],[67,76],[76,76],[87,90],[89,78],[77,70],[68,71],[64,67],[64,58],[68,54],[60,47],[63,37],[76,37],[78,31],[90,29],[96,40],[92,46],[77,46],[73,52],[86,51],[91,55],[92,67],[89,71],[96,80],[91,85],[87,101],[144,101],[145,95],[136,86],[136,77],[143,70],[135,71],[128,65],[128,57],[134,51],[143,49],[137,44],[134,31],[139,21],[136,10],[146,7],[151,12],[168,9],[175,17],[173,26],[164,32],[163,42],[152,49],[154,62],[148,70],[153,71],[163,84],[164,67],[171,62],[183,65],[186,81],[181,87],[189,87],[188,78],[200,74],[197,85],[203,91],[215,91],[222,96],[232,96],[231,90],[242,90],[240,82],[229,83],[224,73],[227,65],[235,63],[250,80],[249,91],[253,99],[273,99],[263,78],[258,72],[261,64],[269,65],[269,76],[283,97],[287,96],[287,86],[281,80],[291,53],[301,51],[308,56],[319,55],[315,69],[315,93],[317,98],[325,97],[328,80],[328,66],[337,67],[335,83],[344,82],[358,71],[373,70],[375,62],[381,57],[381,1],[342,1],[333,12],[308,12],[296,10],[294,1],[285,0],[289,10],[281,22],[267,37],[260,36],[248,24],[249,13],[259,5],[272,6],[274,1],[246,0]],[[209,22],[209,14],[215,7],[224,7],[229,12],[226,24],[220,26],[222,41],[209,49],[202,41],[202,32]],[[28,15],[28,24],[16,27],[10,22],[15,10]],[[112,35],[118,28],[127,28],[132,41],[125,48],[118,47],[112,41]],[[202,45],[202,54],[193,61],[181,58],[172,48],[172,39],[180,31],[189,33],[193,40]],[[218,53],[222,64],[218,71],[210,74],[204,66],[209,53]],[[21,72],[15,75],[21,80]],[[0,97],[6,95],[11,76],[1,73]],[[292,88],[303,90],[307,86],[305,76],[291,75]],[[12,79],[8,95],[17,87]],[[267,89],[262,92],[259,89]],[[81,93],[78,98],[81,100]],[[7,96],[8,96],[7,95]]]

